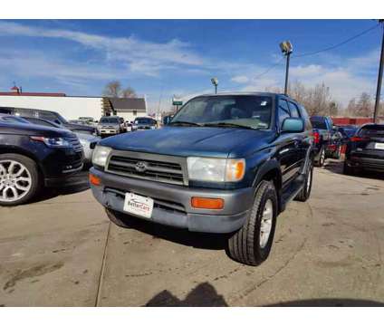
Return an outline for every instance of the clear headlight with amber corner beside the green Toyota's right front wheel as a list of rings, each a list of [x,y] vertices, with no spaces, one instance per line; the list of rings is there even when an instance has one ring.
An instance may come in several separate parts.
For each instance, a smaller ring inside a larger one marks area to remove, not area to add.
[[[190,180],[240,181],[245,175],[244,158],[187,158]]]

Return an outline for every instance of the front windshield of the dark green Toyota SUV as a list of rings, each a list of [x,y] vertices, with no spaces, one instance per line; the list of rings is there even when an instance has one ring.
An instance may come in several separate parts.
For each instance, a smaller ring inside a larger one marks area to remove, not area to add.
[[[272,97],[256,95],[200,96],[178,111],[171,124],[201,126],[239,126],[268,129],[271,124]]]

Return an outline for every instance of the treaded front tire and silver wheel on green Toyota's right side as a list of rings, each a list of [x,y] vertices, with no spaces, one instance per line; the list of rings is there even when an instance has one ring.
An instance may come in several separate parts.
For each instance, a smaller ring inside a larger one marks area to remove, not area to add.
[[[272,248],[278,211],[274,183],[263,180],[245,225],[228,239],[228,254],[235,261],[256,266],[263,263]]]

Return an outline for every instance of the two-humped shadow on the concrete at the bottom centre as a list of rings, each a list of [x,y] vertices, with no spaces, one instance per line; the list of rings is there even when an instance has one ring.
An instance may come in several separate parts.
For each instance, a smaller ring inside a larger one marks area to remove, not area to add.
[[[210,283],[200,283],[191,290],[185,300],[178,299],[168,290],[156,294],[145,304],[147,307],[227,307],[222,295]]]

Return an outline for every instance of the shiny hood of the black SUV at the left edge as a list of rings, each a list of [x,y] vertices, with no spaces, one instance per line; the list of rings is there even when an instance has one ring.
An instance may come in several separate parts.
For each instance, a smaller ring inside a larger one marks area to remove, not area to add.
[[[0,134],[43,136],[43,137],[71,137],[73,132],[65,129],[38,126],[30,123],[0,122]]]

